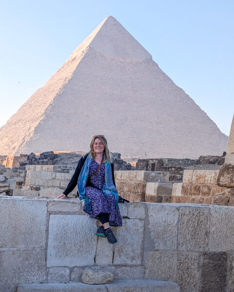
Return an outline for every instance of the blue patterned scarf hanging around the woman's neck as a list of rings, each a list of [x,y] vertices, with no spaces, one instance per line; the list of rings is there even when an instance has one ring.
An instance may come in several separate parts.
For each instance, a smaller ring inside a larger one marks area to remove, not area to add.
[[[103,152],[103,158],[105,161],[106,159],[105,152]],[[85,186],[86,186],[88,175],[89,175],[89,168],[92,162],[93,162],[93,158],[91,157],[89,153],[80,171],[80,174],[78,177],[78,183],[77,183],[79,200],[80,201],[85,200],[86,210],[88,213],[90,212],[90,200],[86,196]],[[115,207],[118,210],[119,207],[118,207],[117,189],[112,179],[111,164],[107,161],[105,162],[105,184],[102,187],[102,192],[105,196],[115,196],[115,200],[116,200]]]

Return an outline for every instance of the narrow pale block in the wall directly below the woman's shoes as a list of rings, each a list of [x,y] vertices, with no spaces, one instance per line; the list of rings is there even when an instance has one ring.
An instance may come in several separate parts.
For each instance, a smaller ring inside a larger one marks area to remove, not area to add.
[[[98,266],[111,265],[113,260],[113,245],[107,238],[98,237],[95,262]],[[97,283],[96,283],[97,284]]]

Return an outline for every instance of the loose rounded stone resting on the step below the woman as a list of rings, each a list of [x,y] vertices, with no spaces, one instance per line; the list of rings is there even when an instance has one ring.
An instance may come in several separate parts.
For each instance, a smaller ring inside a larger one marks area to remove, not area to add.
[[[85,284],[105,284],[113,281],[114,275],[108,271],[86,268],[82,274],[82,282]]]

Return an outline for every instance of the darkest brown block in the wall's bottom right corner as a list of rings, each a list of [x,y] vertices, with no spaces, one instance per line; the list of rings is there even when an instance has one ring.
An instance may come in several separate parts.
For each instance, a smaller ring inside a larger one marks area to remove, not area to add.
[[[203,253],[201,292],[225,292],[227,277],[227,254]]]

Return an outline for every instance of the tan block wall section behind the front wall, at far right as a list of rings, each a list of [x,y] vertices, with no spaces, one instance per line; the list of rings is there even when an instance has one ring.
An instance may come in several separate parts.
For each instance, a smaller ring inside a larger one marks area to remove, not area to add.
[[[172,202],[229,205],[227,198],[220,197],[226,187],[217,185],[219,170],[184,170],[183,183],[174,183]]]

